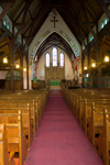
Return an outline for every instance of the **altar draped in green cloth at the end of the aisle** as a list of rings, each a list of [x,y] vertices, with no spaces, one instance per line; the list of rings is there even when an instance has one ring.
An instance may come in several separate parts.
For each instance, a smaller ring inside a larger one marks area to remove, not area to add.
[[[50,88],[51,89],[61,89],[61,79],[51,79]]]

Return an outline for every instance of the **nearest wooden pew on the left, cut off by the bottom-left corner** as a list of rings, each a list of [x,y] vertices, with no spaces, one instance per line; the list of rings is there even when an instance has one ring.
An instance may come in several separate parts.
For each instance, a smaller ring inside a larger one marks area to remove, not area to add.
[[[0,124],[0,165],[15,165],[13,161],[13,154],[8,153],[6,124]]]

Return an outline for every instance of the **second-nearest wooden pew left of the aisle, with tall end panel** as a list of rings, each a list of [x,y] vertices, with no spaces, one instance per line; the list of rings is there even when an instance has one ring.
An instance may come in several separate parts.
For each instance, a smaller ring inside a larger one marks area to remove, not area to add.
[[[26,157],[28,144],[26,139],[23,135],[22,114],[21,111],[19,111],[18,114],[10,114],[10,116],[11,117],[13,116],[13,118],[18,120],[18,122],[13,123],[4,122],[8,139],[8,145],[6,145],[6,148],[8,148],[8,152],[10,154],[19,152],[19,164],[23,165],[23,162]]]

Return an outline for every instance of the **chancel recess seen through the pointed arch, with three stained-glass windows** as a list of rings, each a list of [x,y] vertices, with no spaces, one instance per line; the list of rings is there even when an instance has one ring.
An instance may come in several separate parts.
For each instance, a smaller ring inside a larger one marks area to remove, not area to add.
[[[37,63],[32,59],[32,76],[37,80],[73,80],[75,73],[72,68],[72,54],[74,52],[69,44],[59,34],[52,33],[35,53]]]

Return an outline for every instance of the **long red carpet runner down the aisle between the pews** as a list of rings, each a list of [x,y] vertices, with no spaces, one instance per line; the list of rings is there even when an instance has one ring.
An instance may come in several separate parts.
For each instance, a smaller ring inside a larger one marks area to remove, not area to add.
[[[102,165],[63,97],[50,97],[25,165]]]

